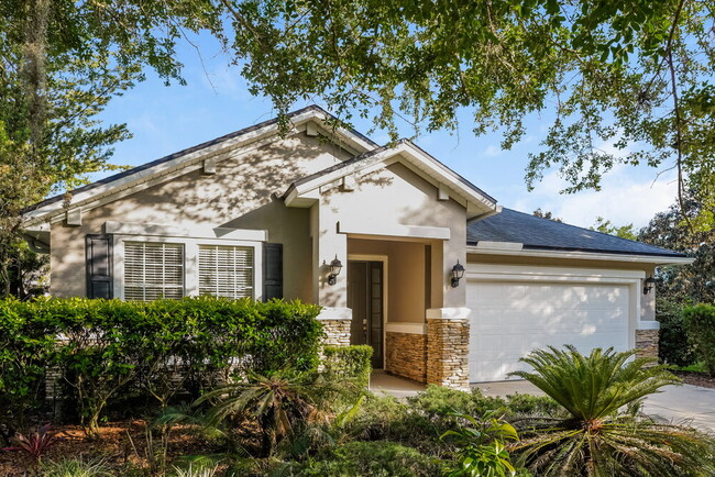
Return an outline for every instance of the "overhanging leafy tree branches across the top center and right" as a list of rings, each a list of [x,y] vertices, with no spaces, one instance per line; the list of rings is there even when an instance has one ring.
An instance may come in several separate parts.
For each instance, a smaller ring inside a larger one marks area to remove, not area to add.
[[[318,97],[345,121],[372,114],[396,138],[397,117],[416,132],[453,129],[466,108],[475,134],[502,130],[509,148],[526,117],[552,113],[542,151],[530,155],[529,188],[550,167],[568,180],[568,192],[598,189],[617,163],[673,167],[681,202],[691,188],[704,206],[688,224],[705,230],[715,222],[712,2],[219,5],[251,91],[283,114]]]

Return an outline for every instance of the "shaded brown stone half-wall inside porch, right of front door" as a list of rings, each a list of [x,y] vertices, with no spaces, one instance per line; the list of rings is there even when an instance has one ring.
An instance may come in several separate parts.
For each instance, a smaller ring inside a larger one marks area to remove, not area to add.
[[[427,382],[427,335],[385,333],[385,370],[418,382]]]

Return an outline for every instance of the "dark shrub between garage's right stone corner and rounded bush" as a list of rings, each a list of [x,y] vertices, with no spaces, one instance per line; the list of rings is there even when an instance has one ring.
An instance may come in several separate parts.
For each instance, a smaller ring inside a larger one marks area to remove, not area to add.
[[[683,306],[667,298],[656,297],[656,320],[660,323],[658,357],[672,366],[695,363],[695,354],[688,340],[682,317]]]

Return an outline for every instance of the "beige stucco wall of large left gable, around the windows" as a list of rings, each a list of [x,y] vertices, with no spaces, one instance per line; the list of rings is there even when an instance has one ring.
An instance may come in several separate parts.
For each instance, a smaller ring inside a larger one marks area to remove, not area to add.
[[[85,235],[101,233],[106,221],[119,221],[267,230],[270,242],[284,244],[286,298],[310,300],[309,211],[286,208],[272,195],[349,157],[334,144],[297,134],[248,153],[232,152],[213,175],[193,170],[86,211],[81,226],[56,223],[51,235],[51,291],[57,297],[85,295]]]

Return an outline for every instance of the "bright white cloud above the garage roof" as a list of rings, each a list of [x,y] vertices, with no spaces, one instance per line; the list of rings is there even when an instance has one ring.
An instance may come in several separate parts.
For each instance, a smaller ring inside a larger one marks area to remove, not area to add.
[[[601,191],[561,195],[559,191],[565,182],[553,171],[547,174],[532,192],[518,198],[514,206],[524,212],[541,208],[573,225],[587,228],[597,217],[603,217],[616,225],[632,223],[638,229],[675,200],[674,173],[663,174],[654,180],[656,175],[656,169],[647,166],[617,165],[604,175]]]

